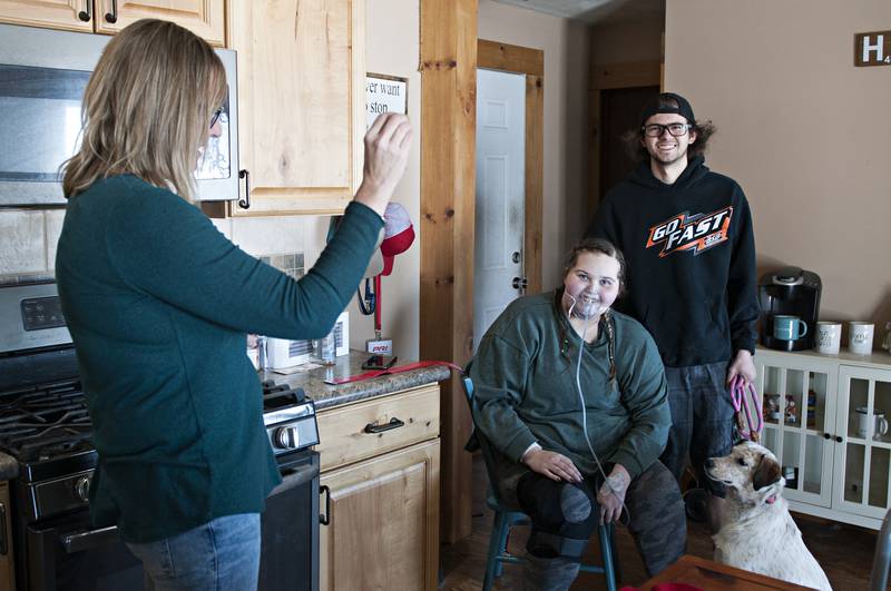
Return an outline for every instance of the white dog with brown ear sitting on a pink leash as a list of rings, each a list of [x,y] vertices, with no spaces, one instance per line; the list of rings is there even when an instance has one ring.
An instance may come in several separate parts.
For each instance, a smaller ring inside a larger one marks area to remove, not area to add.
[[[770,450],[743,442],[725,457],[709,457],[705,473],[726,486],[723,526],[712,536],[716,562],[814,589],[832,589],[789,514],[782,498],[786,481]]]

